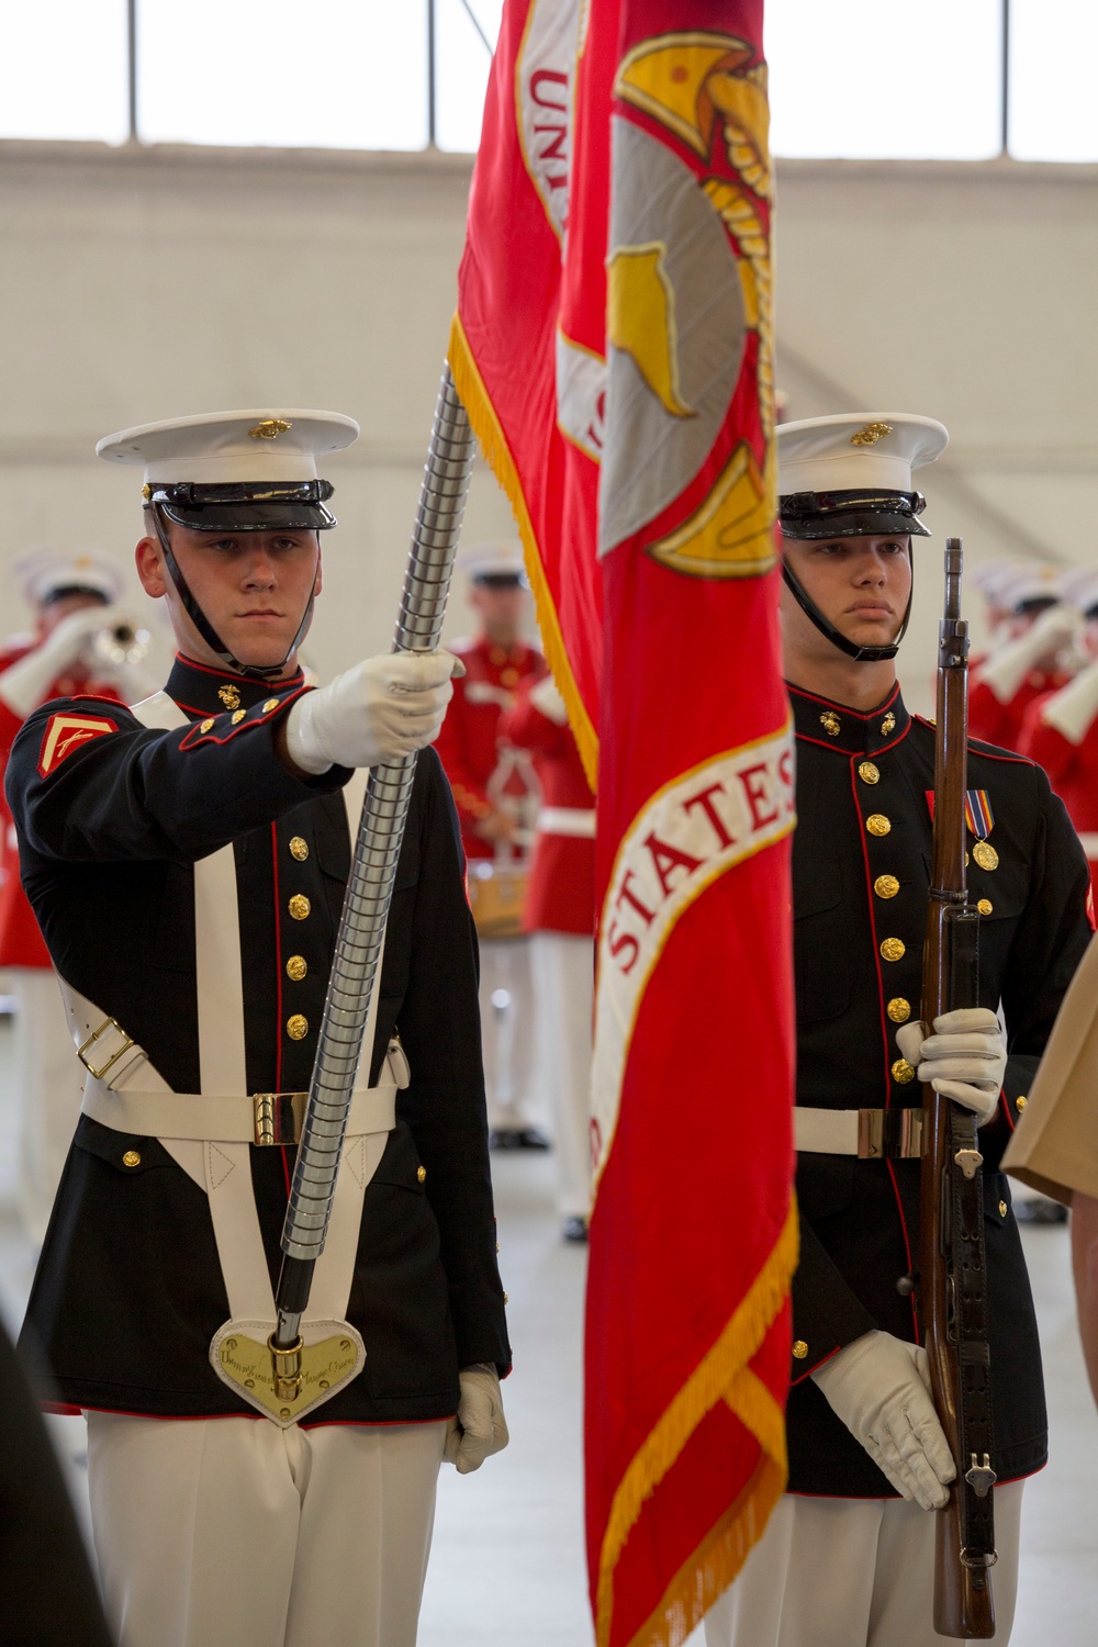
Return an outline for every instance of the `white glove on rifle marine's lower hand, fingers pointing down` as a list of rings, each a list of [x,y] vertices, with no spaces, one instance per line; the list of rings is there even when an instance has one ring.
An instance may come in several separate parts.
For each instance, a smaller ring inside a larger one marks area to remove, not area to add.
[[[930,1398],[925,1349],[866,1332],[810,1377],[896,1491],[924,1510],[942,1509],[956,1466]]]

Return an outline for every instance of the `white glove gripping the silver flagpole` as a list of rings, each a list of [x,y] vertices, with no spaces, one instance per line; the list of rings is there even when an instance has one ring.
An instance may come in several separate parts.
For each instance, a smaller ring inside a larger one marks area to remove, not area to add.
[[[415,754],[438,738],[458,672],[449,652],[369,657],[298,698],[286,715],[286,754],[313,776]]]

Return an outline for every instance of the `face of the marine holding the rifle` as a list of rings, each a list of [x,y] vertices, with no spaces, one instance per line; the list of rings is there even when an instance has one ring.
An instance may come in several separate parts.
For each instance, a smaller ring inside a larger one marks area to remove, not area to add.
[[[910,537],[784,539],[797,581],[854,646],[891,646],[912,591]],[[808,618],[782,586],[787,623]],[[810,624],[812,628],[812,624]]]

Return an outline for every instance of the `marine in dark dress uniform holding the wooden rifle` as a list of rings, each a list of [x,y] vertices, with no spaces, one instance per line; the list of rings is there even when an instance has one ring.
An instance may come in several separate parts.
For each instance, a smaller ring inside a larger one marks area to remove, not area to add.
[[[951,1461],[917,1349],[920,1164],[917,1131],[905,1127],[922,1103],[912,1049],[925,1033],[912,1026],[930,881],[933,726],[909,715],[891,660],[910,609],[912,537],[927,535],[910,471],[943,445],[942,425],[891,413],[779,430],[797,730],[800,1265],[789,1492],[741,1579],[710,1614],[710,1647],[942,1640],[932,1626],[933,1515],[922,1505],[945,1492]],[[835,572],[840,596],[830,613],[805,585],[807,550],[853,568],[844,581]],[[970,888],[983,914],[981,1046],[994,1072],[983,1082],[994,1090],[984,1094],[979,1148],[999,1477],[996,1639],[1007,1640],[1017,1484],[1045,1463],[1047,1418],[1029,1280],[999,1161],[1090,922],[1086,863],[1044,772],[973,743],[968,784]],[[1006,1047],[991,1028],[999,1006]],[[882,1433],[894,1418],[904,1443],[889,1454]]]

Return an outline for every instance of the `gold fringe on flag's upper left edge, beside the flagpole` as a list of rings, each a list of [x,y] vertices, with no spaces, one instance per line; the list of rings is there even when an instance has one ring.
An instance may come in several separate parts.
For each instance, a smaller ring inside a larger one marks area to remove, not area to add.
[[[598,733],[591,725],[591,716],[588,715],[588,708],[579,695],[576,677],[571,672],[571,662],[568,659],[565,637],[560,629],[560,618],[556,614],[556,603],[553,601],[553,593],[548,586],[548,578],[545,576],[542,545],[537,540],[537,532],[533,530],[533,522],[530,520],[530,511],[527,509],[527,499],[522,491],[519,469],[510,446],[507,445],[507,436],[500,428],[499,418],[495,417],[495,407],[492,405],[489,392],[484,385],[484,379],[481,377],[477,364],[472,359],[472,349],[469,348],[469,339],[466,338],[459,315],[454,315],[449,328],[449,348],[446,359],[449,361],[449,369],[454,374],[454,387],[469,415],[472,433],[481,443],[484,460],[491,466],[502,489],[507,492],[507,499],[514,511],[519,537],[522,539],[530,588],[533,590],[538,628],[545,644],[545,659],[568,708],[568,725],[571,726],[573,738],[579,748],[588,782],[591,789],[596,789],[599,769]]]

